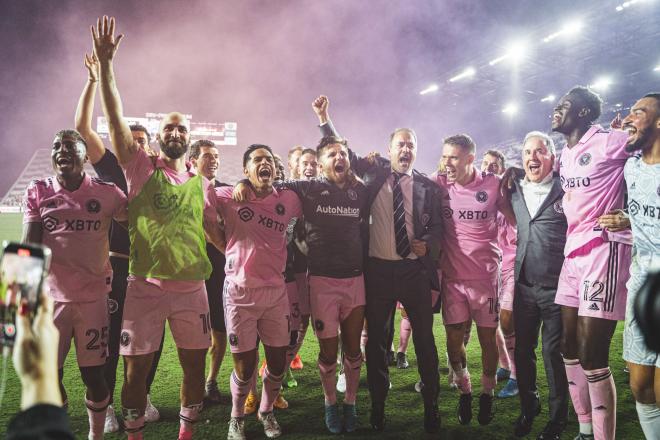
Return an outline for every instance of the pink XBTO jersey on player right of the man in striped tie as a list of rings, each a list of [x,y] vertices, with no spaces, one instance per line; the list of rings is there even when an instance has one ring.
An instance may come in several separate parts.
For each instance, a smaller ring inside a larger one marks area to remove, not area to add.
[[[432,179],[445,188],[444,235],[440,267],[448,279],[478,280],[497,276],[497,203],[500,178],[474,169],[466,186],[448,182],[443,174]]]

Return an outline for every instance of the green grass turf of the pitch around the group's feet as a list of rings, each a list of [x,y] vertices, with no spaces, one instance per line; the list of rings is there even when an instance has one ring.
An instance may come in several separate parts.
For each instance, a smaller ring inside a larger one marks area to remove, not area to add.
[[[0,214],[0,240],[20,238],[21,216],[20,214]],[[398,320],[397,320],[398,323]],[[397,324],[398,330],[398,324]],[[179,386],[181,384],[181,369],[169,331],[163,356],[156,374],[156,380],[152,387],[152,401],[160,410],[161,420],[154,424],[148,424],[145,430],[146,439],[173,439],[178,433],[179,426]],[[436,343],[439,349],[440,364],[445,365],[445,335],[439,318],[436,316],[435,324]],[[398,331],[397,331],[398,338]],[[617,409],[617,438],[625,440],[642,439],[643,434],[637,422],[635,404],[628,386],[628,376],[623,373],[622,351],[622,325],[619,325],[612,341],[611,368],[617,385],[618,409]],[[387,427],[383,433],[375,433],[369,428],[369,395],[366,386],[366,370],[362,369],[362,380],[358,392],[358,414],[360,428],[357,432],[336,436],[327,434],[323,422],[323,393],[316,368],[316,357],[318,355],[318,344],[314,335],[309,332],[303,344],[301,355],[305,368],[296,372],[298,387],[293,390],[285,390],[284,395],[289,400],[290,408],[284,411],[276,411],[277,419],[284,431],[284,438],[288,439],[332,439],[337,437],[347,438],[373,438],[373,439],[408,439],[432,437],[424,433],[422,428],[423,404],[421,397],[413,389],[418,380],[417,363],[414,350],[408,349],[411,368],[407,370],[390,369],[392,389],[390,390],[386,417]],[[536,419],[533,436],[543,428],[547,421],[547,386],[543,362],[539,362],[539,388],[543,404],[543,412]],[[481,376],[481,362],[479,344],[476,332],[473,332],[473,340],[468,345],[468,364],[473,377],[475,392],[479,390],[479,377]],[[231,371],[231,358],[227,356],[220,371],[220,389],[225,396],[224,403],[217,406],[205,408],[200,422],[196,425],[196,438],[199,439],[222,439],[227,435],[227,422],[230,413],[229,382]],[[440,415],[442,417],[442,429],[439,438],[446,439],[510,439],[513,438],[513,422],[519,413],[518,398],[496,401],[496,418],[488,426],[479,426],[476,420],[476,408],[478,400],[474,401],[475,418],[468,426],[461,426],[456,420],[456,404],[458,395],[447,386],[446,370],[441,375],[440,389]],[[118,388],[115,390],[115,401],[120,402],[122,368],[121,362],[118,371]],[[87,414],[83,402],[84,389],[75,363],[75,354],[72,352],[65,364],[64,384],[68,390],[70,406],[69,414],[71,425],[80,439],[87,438]],[[502,384],[498,386],[501,388]],[[20,390],[16,374],[11,366],[8,369],[7,389],[0,408],[0,437],[4,436],[5,427],[9,418],[16,413],[20,403]],[[571,409],[569,415],[570,423],[564,438],[573,438],[577,433],[575,415]],[[254,416],[248,418],[246,423],[247,436],[250,439],[265,438],[261,425]],[[110,434],[107,439],[120,439],[124,435]]]

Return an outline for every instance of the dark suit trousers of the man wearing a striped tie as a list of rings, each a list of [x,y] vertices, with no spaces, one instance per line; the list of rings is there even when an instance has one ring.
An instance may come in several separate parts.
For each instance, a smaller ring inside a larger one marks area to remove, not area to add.
[[[369,258],[365,271],[367,292],[366,318],[367,381],[373,403],[384,403],[390,379],[387,352],[389,334],[393,331],[392,314],[396,301],[408,313],[413,329],[417,369],[424,383],[424,403],[434,404],[438,398],[438,352],[433,337],[431,282],[428,271],[417,260],[386,261]]]

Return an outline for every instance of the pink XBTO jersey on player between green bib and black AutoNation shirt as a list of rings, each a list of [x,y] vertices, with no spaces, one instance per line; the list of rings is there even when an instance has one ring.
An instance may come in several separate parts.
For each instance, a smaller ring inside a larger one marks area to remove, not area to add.
[[[293,191],[273,189],[263,199],[251,194],[247,203],[236,203],[233,190],[215,190],[217,210],[225,220],[227,279],[239,287],[284,286],[286,229],[293,217],[302,215],[300,199]]]

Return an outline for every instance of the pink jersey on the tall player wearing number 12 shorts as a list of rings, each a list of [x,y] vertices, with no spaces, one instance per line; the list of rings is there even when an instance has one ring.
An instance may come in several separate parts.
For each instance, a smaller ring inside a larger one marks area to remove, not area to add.
[[[628,134],[592,126],[572,148],[564,148],[559,172],[564,192],[563,206],[568,230],[564,255],[594,239],[632,244],[629,229],[604,231],[598,217],[623,209],[623,167],[630,154],[625,151]]]

